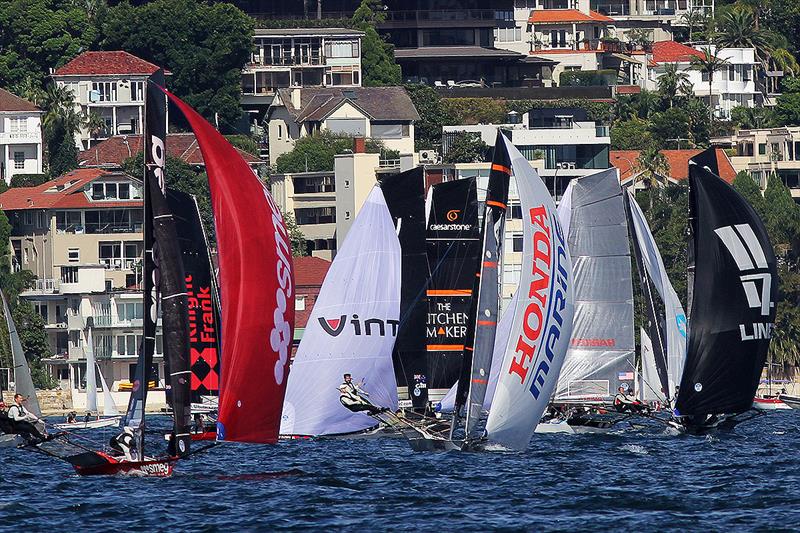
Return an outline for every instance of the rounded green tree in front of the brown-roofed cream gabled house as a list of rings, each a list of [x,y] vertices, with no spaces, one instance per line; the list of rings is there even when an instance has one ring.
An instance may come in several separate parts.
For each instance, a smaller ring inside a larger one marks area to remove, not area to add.
[[[380,153],[383,144],[371,139],[367,140],[368,153]],[[314,135],[299,139],[291,152],[287,152],[275,161],[279,174],[294,172],[332,172],[334,158],[353,149],[353,138],[324,130]]]

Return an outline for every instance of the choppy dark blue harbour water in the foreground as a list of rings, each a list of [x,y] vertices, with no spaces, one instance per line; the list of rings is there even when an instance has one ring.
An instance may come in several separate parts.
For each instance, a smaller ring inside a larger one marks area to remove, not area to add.
[[[798,411],[713,438],[536,435],[525,453],[225,444],[162,480],[79,478],[0,449],[0,530],[793,530],[798,452]]]

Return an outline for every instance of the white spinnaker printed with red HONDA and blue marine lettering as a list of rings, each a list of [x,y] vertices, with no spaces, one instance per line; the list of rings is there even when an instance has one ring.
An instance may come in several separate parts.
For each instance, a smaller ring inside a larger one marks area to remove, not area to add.
[[[539,175],[507,139],[523,213],[519,299],[500,367],[488,439],[508,448],[528,446],[558,380],[572,332],[572,262],[556,206]]]

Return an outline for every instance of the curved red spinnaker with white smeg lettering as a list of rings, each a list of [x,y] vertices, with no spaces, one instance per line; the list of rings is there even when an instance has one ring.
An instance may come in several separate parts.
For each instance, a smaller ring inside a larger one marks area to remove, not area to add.
[[[233,146],[167,95],[197,136],[211,187],[222,301],[217,437],[275,443],[294,330],[289,234],[269,191]]]

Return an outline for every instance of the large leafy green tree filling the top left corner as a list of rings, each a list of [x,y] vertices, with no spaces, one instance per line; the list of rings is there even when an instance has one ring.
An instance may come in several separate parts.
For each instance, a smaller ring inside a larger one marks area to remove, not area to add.
[[[0,86],[27,78],[41,86],[51,68],[90,49],[97,39],[87,13],[64,0],[0,2]]]

